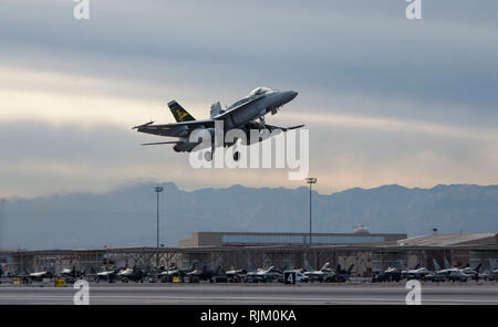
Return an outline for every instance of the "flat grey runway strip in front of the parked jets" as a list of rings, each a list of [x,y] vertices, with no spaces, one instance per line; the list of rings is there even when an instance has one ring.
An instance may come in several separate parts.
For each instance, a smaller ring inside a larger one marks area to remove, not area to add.
[[[91,284],[91,305],[404,305],[408,289],[396,285],[283,284]],[[0,304],[72,305],[72,286],[0,287]],[[422,286],[422,304],[498,304],[497,284]]]

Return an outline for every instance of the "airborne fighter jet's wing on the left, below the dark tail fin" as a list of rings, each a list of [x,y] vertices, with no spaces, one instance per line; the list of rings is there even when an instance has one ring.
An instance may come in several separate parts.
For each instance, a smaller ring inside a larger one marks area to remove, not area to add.
[[[160,136],[172,136],[172,137],[181,137],[188,134],[189,130],[194,130],[197,128],[209,128],[215,127],[215,120],[212,119],[204,119],[204,120],[194,120],[194,122],[181,122],[181,123],[173,123],[173,124],[162,124],[162,125],[153,125],[154,122],[146,123],[144,125],[135,126],[133,129],[136,129],[141,133],[160,135]]]

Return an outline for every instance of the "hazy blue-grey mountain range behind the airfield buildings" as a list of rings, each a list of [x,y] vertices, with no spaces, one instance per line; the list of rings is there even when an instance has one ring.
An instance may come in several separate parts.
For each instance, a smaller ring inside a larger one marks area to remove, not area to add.
[[[77,192],[4,203],[0,247],[98,249],[154,246],[156,194],[162,186],[160,242],[198,231],[308,232],[309,189],[180,190],[173,182],[127,184],[102,193]],[[313,191],[313,231],[376,233],[497,232],[498,186],[449,184],[408,189],[397,184]]]

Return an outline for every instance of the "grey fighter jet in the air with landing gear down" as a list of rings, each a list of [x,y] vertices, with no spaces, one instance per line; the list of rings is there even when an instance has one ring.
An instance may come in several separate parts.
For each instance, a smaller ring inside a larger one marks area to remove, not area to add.
[[[251,139],[251,129],[267,129],[271,133],[273,130],[287,131],[304,126],[278,127],[267,125],[264,122],[264,116],[267,114],[277,114],[281,106],[291,102],[297,95],[298,93],[295,91],[278,91],[268,87],[258,87],[225,110],[221,109],[219,102],[212,104],[210,118],[201,120],[196,120],[176,101],[172,101],[168,103],[168,107],[177,123],[154,125],[154,122],[149,122],[135,126],[133,129],[136,129],[139,133],[177,137],[178,139],[176,140],[143,144],[144,146],[172,144],[174,145],[173,149],[177,152],[190,152],[205,149],[206,147],[204,147],[205,143],[203,143],[203,139],[207,136],[207,133],[210,136],[211,149],[210,151],[207,151],[206,159],[210,160],[212,159],[212,154],[215,151],[216,122],[222,122],[224,147],[234,146],[237,141],[225,140],[225,135],[231,129],[240,129],[246,135],[246,145],[251,145],[262,140],[262,137],[260,136],[252,137]],[[258,119],[259,122],[257,122]],[[234,159],[239,159],[239,154],[237,151],[234,154]]]

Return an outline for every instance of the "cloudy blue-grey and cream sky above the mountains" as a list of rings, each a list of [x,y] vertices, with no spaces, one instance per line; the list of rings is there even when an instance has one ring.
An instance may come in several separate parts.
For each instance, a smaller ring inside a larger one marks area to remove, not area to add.
[[[498,2],[0,1],[0,197],[298,187],[283,169],[193,169],[134,133],[196,118],[264,85],[299,96],[268,123],[307,124],[321,192],[498,182]]]

